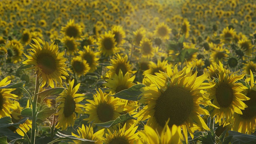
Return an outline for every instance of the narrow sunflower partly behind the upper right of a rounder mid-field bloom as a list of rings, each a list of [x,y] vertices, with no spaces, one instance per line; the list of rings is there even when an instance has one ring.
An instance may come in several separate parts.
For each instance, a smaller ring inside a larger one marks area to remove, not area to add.
[[[125,42],[124,38],[126,38],[123,27],[122,26],[113,26],[111,32],[115,35],[114,39],[115,39],[117,45],[121,46]]]

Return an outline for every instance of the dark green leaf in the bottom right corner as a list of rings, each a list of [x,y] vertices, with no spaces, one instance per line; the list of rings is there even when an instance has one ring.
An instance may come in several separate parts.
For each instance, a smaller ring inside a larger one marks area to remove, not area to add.
[[[240,144],[256,144],[256,136],[249,134],[242,134],[240,132],[229,130],[228,134],[233,136],[231,142],[239,140]]]

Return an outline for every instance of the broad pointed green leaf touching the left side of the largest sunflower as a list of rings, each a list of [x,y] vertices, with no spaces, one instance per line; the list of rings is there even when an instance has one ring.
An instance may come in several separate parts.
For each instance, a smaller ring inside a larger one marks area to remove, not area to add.
[[[142,93],[140,91],[140,88],[145,87],[144,84],[136,84],[126,90],[122,90],[114,95],[110,95],[110,96],[114,96],[114,97],[118,97],[118,98],[122,98],[125,100],[132,100],[132,101],[137,101],[140,100],[140,94]]]

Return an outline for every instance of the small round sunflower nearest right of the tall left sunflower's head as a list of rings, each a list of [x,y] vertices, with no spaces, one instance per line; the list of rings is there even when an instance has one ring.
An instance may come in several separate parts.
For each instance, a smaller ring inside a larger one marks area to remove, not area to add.
[[[90,70],[90,66],[87,61],[79,56],[72,58],[71,66],[78,77],[86,75]]]

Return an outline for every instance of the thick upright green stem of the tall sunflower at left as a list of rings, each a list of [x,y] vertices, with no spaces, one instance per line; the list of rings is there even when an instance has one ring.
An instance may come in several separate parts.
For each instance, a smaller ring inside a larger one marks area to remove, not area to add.
[[[35,144],[36,140],[36,104],[37,104],[37,98],[38,98],[38,90],[40,86],[40,78],[36,74],[36,86],[35,86],[35,93],[34,93],[34,100],[32,102],[32,130],[31,130],[31,144]]]

